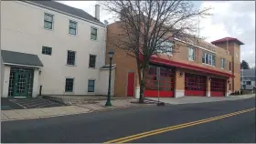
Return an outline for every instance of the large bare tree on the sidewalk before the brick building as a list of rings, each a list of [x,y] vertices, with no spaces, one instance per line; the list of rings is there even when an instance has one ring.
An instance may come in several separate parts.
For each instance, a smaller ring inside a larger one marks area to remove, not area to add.
[[[140,103],[144,103],[145,72],[152,56],[176,53],[174,38],[195,39],[197,17],[209,15],[209,8],[197,9],[189,1],[105,1],[102,4],[117,18],[122,34],[108,40],[136,58]],[[170,56],[170,55],[167,55]]]

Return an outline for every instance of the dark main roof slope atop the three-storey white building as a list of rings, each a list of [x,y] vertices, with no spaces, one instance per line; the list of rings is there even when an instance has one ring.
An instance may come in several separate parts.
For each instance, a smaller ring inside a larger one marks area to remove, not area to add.
[[[47,6],[47,7],[50,7],[50,8],[57,9],[59,11],[68,13],[70,15],[79,16],[81,18],[90,20],[90,21],[95,22],[95,23],[100,24],[100,25],[104,25],[103,23],[101,23],[100,20],[96,19],[92,15],[86,13],[85,11],[83,11],[79,8],[71,7],[69,5],[64,5],[64,4],[61,4],[59,2],[55,2],[55,1],[51,1],[51,0],[48,0],[48,1],[29,1],[29,2],[33,2],[33,3],[36,3],[38,5],[44,5],[44,6]]]

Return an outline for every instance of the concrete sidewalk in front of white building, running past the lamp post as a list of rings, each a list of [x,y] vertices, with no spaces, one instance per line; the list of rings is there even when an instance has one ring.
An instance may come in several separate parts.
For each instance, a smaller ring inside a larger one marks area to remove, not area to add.
[[[89,113],[93,111],[111,110],[116,108],[146,107],[154,105],[154,103],[133,103],[135,101],[138,100],[135,98],[112,100],[112,107],[105,107],[106,100],[97,100],[93,101],[93,104],[77,104],[76,106],[1,110],[1,121],[58,117],[65,115]]]

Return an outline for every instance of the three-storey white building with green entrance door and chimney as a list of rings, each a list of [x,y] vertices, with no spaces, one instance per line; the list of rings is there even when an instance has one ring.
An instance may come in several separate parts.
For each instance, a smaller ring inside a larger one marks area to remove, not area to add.
[[[99,5],[95,15],[54,1],[2,1],[2,97],[35,98],[40,86],[42,95],[106,95]]]

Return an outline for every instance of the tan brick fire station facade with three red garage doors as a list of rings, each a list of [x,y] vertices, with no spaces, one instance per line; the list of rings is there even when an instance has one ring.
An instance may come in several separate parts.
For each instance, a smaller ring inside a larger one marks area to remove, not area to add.
[[[123,32],[121,22],[108,27],[107,39]],[[107,51],[115,51],[115,96],[139,98],[136,60],[125,51],[107,43]],[[225,97],[240,90],[240,40],[226,37],[209,44],[197,39],[174,38],[170,44],[179,46],[177,52],[151,57],[146,72],[144,97],[183,96]],[[106,56],[108,64],[108,57]],[[159,77],[156,77],[157,69]],[[159,90],[159,93],[158,93]]]

